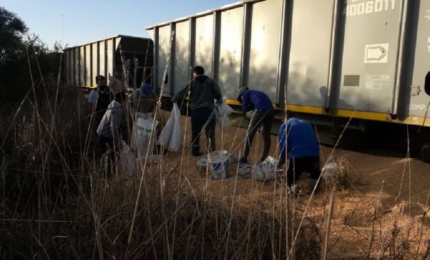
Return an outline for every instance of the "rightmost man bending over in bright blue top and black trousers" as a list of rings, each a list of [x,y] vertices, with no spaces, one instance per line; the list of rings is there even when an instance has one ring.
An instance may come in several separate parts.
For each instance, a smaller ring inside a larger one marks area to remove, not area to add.
[[[286,184],[291,187],[302,172],[311,174],[309,189],[313,191],[318,177],[320,177],[320,148],[315,132],[310,123],[292,117],[281,125],[279,129],[279,166],[286,159],[290,160],[286,173]]]

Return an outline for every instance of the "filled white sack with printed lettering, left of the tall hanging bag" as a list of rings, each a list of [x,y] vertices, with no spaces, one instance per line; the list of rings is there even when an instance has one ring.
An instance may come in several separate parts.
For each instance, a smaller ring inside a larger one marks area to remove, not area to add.
[[[146,155],[153,155],[155,129],[158,123],[157,120],[153,122],[153,119],[148,117],[148,115],[143,116],[139,114],[137,116],[135,127],[132,132],[132,148],[138,152],[137,154],[140,155],[140,159],[144,158]]]

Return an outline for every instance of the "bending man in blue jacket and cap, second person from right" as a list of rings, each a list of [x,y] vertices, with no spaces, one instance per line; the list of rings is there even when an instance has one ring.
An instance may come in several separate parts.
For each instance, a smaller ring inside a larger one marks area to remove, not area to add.
[[[248,87],[241,87],[241,89],[239,89],[237,100],[242,103],[243,113],[255,110],[250,121],[248,132],[246,133],[245,150],[243,151],[243,157],[239,159],[239,164],[248,163],[248,155],[251,150],[252,140],[261,125],[263,125],[262,134],[264,148],[260,162],[263,162],[270,150],[270,128],[272,128],[274,114],[272,101],[270,101],[270,98],[263,92],[250,90]]]

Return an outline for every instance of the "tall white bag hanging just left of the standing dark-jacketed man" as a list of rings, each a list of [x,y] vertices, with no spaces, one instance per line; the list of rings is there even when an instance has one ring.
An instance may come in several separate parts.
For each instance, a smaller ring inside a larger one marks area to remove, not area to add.
[[[178,104],[173,103],[173,110],[160,134],[160,137],[158,137],[157,144],[174,153],[178,152],[180,149],[181,139],[180,111]]]

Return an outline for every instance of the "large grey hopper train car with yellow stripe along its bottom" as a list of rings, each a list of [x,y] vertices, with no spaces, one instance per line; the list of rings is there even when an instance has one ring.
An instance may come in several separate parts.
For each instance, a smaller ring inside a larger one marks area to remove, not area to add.
[[[199,64],[230,105],[248,86],[266,92],[279,111],[334,132],[350,119],[357,129],[408,125],[430,159],[429,0],[240,1],[146,31],[155,85],[167,69],[166,96]]]

